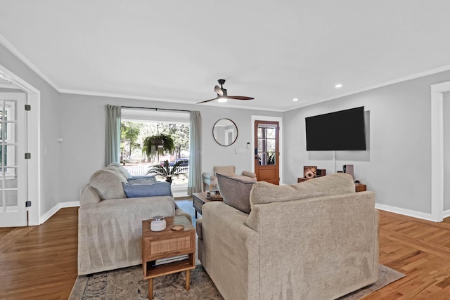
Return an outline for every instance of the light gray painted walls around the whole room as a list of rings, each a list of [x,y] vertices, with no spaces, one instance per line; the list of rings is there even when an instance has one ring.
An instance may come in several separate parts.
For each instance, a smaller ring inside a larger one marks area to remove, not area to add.
[[[364,105],[368,117],[368,150],[337,152],[337,169],[342,169],[342,164],[354,164],[356,178],[375,191],[378,204],[430,213],[430,84],[449,81],[450,72],[281,114],[60,94],[1,45],[0,64],[41,92],[41,215],[58,202],[78,200],[79,188],[96,169],[103,167],[106,104],[200,110],[202,171],[226,164],[235,164],[238,172],[252,169],[252,151],[246,149],[246,143],[251,142],[251,115],[283,117],[285,183],[295,183],[302,176],[304,165],[317,165],[328,174],[334,169],[330,152],[306,151],[304,117]],[[212,126],[220,118],[232,119],[238,126],[238,140],[230,147],[217,145],[212,137]],[[63,138],[62,143],[58,143],[59,137]],[[245,153],[236,154],[236,148],[245,149]],[[448,168],[446,172],[449,178]],[[445,203],[449,209],[449,200]]]

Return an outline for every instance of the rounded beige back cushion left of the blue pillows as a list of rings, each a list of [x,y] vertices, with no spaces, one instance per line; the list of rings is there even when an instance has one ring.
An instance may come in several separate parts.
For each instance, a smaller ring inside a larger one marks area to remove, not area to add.
[[[101,169],[92,174],[89,185],[96,190],[101,200],[126,198],[122,183],[124,176],[112,170]]]

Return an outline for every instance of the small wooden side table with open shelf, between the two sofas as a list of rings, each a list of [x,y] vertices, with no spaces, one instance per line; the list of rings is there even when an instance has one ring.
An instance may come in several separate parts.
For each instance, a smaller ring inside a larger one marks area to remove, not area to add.
[[[167,227],[162,231],[151,231],[150,221],[142,221],[142,266],[143,278],[148,279],[148,298],[153,299],[153,278],[186,270],[186,290],[191,284],[191,270],[195,268],[195,228],[186,216],[165,218]],[[184,229],[172,230],[182,225]],[[174,256],[184,256],[180,261],[169,261]]]

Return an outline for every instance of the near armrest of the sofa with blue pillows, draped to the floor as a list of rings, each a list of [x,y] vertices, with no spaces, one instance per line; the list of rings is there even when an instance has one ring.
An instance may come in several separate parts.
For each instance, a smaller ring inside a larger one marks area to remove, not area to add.
[[[78,209],[78,274],[142,263],[142,221],[174,216],[170,196],[120,198]]]

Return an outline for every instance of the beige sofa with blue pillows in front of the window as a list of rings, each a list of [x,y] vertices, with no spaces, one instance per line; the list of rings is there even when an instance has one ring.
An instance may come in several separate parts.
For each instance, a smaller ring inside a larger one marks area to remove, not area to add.
[[[158,215],[185,215],[191,221],[189,214],[175,209],[170,186],[169,193],[166,193],[169,183],[153,183],[152,178],[132,181],[134,178],[127,175],[122,167],[106,167],[96,171],[89,184],[81,190],[78,209],[79,275],[142,263],[142,220]],[[139,191],[147,188],[155,196],[127,197],[124,184],[130,188],[136,185]]]

